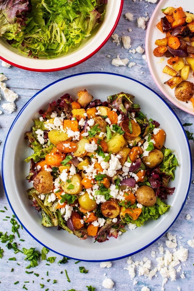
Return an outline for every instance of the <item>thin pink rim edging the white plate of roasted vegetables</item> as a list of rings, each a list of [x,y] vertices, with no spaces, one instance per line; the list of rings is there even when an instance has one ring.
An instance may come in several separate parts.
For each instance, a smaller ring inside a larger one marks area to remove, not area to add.
[[[160,91],[163,93],[163,95],[172,103],[174,104],[176,107],[178,107],[179,109],[187,112],[187,113],[190,113],[192,115],[194,115],[194,111],[192,112],[191,110],[188,110],[187,108],[185,107],[182,107],[181,105],[179,105],[178,103],[176,103],[173,99],[171,99],[168,94],[163,90],[163,88],[160,86],[158,80],[156,79],[155,77],[155,74],[152,70],[152,66],[151,66],[151,63],[150,63],[150,59],[149,59],[149,54],[148,54],[148,50],[149,50],[149,37],[150,37],[150,29],[151,29],[151,26],[153,25],[152,24],[152,21],[154,20],[154,17],[156,15],[156,12],[158,11],[158,8],[159,6],[161,6],[161,4],[164,2],[165,0],[161,0],[159,1],[158,5],[156,6],[156,8],[154,9],[154,12],[152,14],[152,16],[150,17],[150,20],[149,20],[149,24],[147,26],[147,31],[146,31],[146,36],[145,36],[145,54],[146,54],[146,59],[147,59],[147,64],[148,64],[148,68],[149,68],[149,71],[152,75],[152,78],[154,79],[154,82],[156,83],[156,86],[160,89]]]

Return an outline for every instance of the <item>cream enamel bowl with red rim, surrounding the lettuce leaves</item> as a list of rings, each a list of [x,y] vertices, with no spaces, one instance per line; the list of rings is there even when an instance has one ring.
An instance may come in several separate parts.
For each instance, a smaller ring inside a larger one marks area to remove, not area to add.
[[[76,48],[70,48],[66,54],[54,58],[27,57],[19,49],[9,45],[5,38],[0,37],[0,59],[15,67],[36,72],[71,68],[93,56],[108,41],[118,24],[122,7],[123,0],[108,0],[107,4],[104,4],[106,13],[102,23],[93,29],[91,35],[82,40]]]

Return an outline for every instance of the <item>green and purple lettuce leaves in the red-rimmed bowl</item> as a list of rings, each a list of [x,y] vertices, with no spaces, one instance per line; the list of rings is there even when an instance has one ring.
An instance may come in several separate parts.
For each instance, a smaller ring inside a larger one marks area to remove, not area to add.
[[[107,0],[0,0],[0,36],[34,58],[75,49],[102,22]]]

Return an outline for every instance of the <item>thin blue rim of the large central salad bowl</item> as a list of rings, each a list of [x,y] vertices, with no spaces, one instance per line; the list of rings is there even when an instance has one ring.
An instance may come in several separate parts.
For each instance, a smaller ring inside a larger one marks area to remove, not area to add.
[[[164,103],[165,105],[168,107],[168,109],[173,113],[173,115],[177,118],[183,132],[184,132],[184,135],[185,135],[185,138],[186,138],[186,142],[187,142],[187,145],[188,145],[188,150],[189,150],[189,157],[190,157],[190,167],[191,167],[191,172],[190,172],[190,177],[189,177],[189,187],[187,189],[187,193],[186,193],[186,196],[185,196],[185,200],[182,204],[182,207],[181,209],[179,210],[177,216],[175,217],[174,221],[170,224],[170,226],[163,232],[161,233],[161,235],[159,235],[156,239],[154,239],[152,242],[150,242],[149,244],[145,245],[143,248],[141,249],[138,249],[137,251],[134,251],[132,253],[129,253],[129,254],[126,254],[124,256],[121,256],[121,257],[117,257],[117,258],[110,258],[110,259],[106,259],[106,260],[82,260],[82,259],[79,259],[79,258],[73,258],[73,257],[70,257],[68,256],[68,258],[71,258],[73,260],[81,260],[81,261],[84,261],[84,262],[108,262],[108,261],[114,261],[114,260],[120,260],[120,259],[123,259],[123,258],[126,258],[126,257],[129,257],[131,255],[134,255],[140,251],[143,251],[144,249],[146,249],[148,246],[150,246],[151,244],[153,244],[154,242],[156,242],[164,233],[167,232],[167,230],[173,225],[173,223],[177,220],[177,218],[179,217],[179,214],[181,213],[183,207],[184,207],[184,204],[186,202],[186,199],[187,199],[187,196],[188,196],[188,193],[189,193],[189,189],[190,189],[190,184],[191,184],[191,174],[192,174],[192,158],[191,158],[191,149],[190,149],[190,145],[189,145],[189,142],[188,142],[188,139],[187,139],[187,136],[186,136],[186,133],[185,133],[185,130],[178,118],[178,116],[176,115],[176,113],[172,110],[172,108],[165,102],[165,100],[162,99],[162,97],[160,97],[160,95],[158,95],[154,90],[152,90],[151,88],[149,88],[148,86],[146,86],[145,84],[141,83],[140,81],[137,81],[137,80],[134,80],[130,77],[127,77],[127,76],[124,76],[124,75],[120,75],[120,74],[115,74],[115,73],[111,73],[111,72],[85,72],[85,73],[78,73],[78,74],[73,74],[73,75],[70,75],[70,76],[67,76],[67,77],[64,77],[64,78],[61,78],[57,81],[54,81],[52,82],[51,84],[47,85],[46,87],[42,88],[40,91],[38,91],[35,95],[33,95],[30,100],[22,107],[22,109],[19,111],[19,113],[17,114],[16,118],[14,119],[9,131],[8,131],[8,134],[6,136],[6,140],[5,140],[5,144],[4,144],[4,147],[3,147],[3,157],[2,157],[2,163],[1,163],[1,166],[2,166],[2,180],[3,180],[3,187],[4,187],[4,190],[5,190],[5,194],[6,194],[6,198],[8,200],[8,203],[11,207],[11,210],[13,211],[13,213],[15,214],[17,220],[19,221],[19,223],[23,226],[23,228],[27,231],[27,233],[29,233],[29,235],[31,237],[33,237],[38,243],[40,243],[42,246],[45,246],[46,248],[48,248],[50,251],[53,251],[54,253],[57,253],[58,255],[62,255],[62,256],[66,256],[64,254],[61,254],[57,251],[54,251],[53,249],[49,248],[48,246],[46,246],[45,244],[43,244],[42,242],[40,242],[39,239],[37,239],[36,237],[34,237],[30,232],[29,230],[23,225],[23,223],[18,219],[17,217],[17,214],[14,212],[13,210],[13,207],[10,203],[10,200],[8,198],[8,194],[7,194],[7,191],[6,191],[6,187],[5,187],[5,182],[4,182],[4,172],[3,172],[3,164],[4,164],[4,159],[5,159],[5,148],[6,148],[6,143],[7,143],[7,140],[8,140],[8,136],[10,134],[10,132],[12,131],[17,119],[19,118],[19,116],[22,114],[22,112],[24,111],[24,109],[28,106],[28,104],[38,95],[40,94],[42,91],[44,91],[45,89],[49,88],[50,86],[60,82],[60,81],[63,81],[65,79],[69,79],[69,78],[72,78],[72,77],[76,77],[76,76],[80,76],[80,75],[86,75],[86,74],[108,74],[108,75],[114,75],[114,76],[118,76],[118,77],[123,77],[123,78],[126,78],[126,79],[129,79],[131,81],[134,81],[142,86],[144,86],[145,88],[149,89],[150,91],[152,91],[155,95],[157,95]]]

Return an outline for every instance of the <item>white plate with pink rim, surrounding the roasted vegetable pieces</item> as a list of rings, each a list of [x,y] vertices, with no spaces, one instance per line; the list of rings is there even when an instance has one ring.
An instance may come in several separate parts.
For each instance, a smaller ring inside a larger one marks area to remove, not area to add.
[[[165,33],[162,33],[156,27],[156,24],[160,21],[161,17],[165,16],[162,13],[162,9],[165,9],[167,7],[178,8],[180,6],[183,8],[184,11],[190,11],[191,13],[194,13],[194,6],[193,7],[191,6],[191,0],[159,1],[158,5],[156,6],[152,14],[152,17],[149,20],[149,24],[147,27],[147,33],[145,38],[145,53],[150,73],[160,91],[165,95],[165,97],[170,102],[172,102],[172,104],[184,110],[185,112],[194,115],[194,109],[191,101],[183,102],[178,100],[175,97],[175,88],[171,89],[168,85],[164,84],[165,81],[168,81],[171,78],[171,76],[162,72],[165,65],[167,65],[168,58],[166,58],[165,56],[156,57],[153,54],[153,50],[156,47],[155,45],[156,39],[165,38]],[[191,72],[191,69],[188,81],[194,82],[193,72]]]

